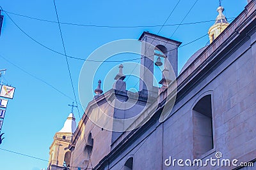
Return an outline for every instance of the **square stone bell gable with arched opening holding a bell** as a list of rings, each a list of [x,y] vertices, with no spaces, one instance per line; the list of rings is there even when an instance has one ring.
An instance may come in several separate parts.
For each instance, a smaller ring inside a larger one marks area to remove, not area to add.
[[[181,43],[150,32],[143,32],[139,40],[141,41],[141,53],[144,55],[141,56],[140,91],[158,92],[158,88],[153,86],[154,64],[162,66],[162,61],[168,60],[164,62],[164,69],[173,69],[177,76],[178,47]],[[157,56],[156,62],[154,62],[154,56]]]

